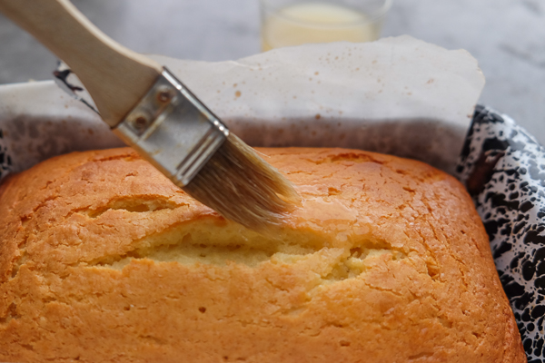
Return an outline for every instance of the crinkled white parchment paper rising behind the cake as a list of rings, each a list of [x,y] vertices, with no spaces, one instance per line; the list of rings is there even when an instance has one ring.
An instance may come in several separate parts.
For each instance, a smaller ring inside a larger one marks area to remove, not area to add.
[[[477,61],[409,36],[307,44],[220,63],[153,56],[253,146],[348,147],[453,168],[484,85]],[[53,82],[0,86],[14,171],[119,146]]]

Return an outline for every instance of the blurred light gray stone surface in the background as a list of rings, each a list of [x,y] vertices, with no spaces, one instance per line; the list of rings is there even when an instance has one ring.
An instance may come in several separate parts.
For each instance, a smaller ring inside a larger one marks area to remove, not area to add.
[[[203,61],[256,54],[257,0],[74,0],[114,40],[142,53]],[[545,143],[545,1],[394,0],[383,35],[464,48],[487,84],[481,103]],[[55,58],[0,15],[0,83],[51,78]]]

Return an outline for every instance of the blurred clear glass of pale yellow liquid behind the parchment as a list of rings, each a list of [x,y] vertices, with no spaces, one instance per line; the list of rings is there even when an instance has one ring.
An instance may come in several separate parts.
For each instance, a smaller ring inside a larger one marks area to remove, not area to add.
[[[305,3],[282,8],[263,21],[263,52],[282,46],[329,42],[370,42],[378,39],[380,23],[347,7]]]

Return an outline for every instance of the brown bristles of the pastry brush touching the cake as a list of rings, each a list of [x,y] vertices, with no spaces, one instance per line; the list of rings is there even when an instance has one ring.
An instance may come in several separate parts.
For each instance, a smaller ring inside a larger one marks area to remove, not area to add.
[[[292,183],[233,133],[183,191],[257,231],[280,224],[300,201]]]

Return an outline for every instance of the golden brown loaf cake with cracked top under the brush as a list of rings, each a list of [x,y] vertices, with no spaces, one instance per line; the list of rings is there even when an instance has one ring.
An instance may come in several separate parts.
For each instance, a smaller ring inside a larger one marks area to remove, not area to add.
[[[130,149],[5,182],[0,361],[526,361],[459,182],[372,152],[260,151],[302,194],[269,237]]]

